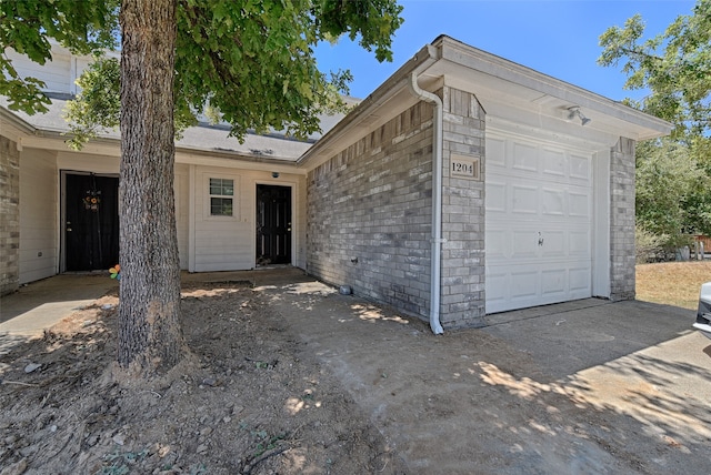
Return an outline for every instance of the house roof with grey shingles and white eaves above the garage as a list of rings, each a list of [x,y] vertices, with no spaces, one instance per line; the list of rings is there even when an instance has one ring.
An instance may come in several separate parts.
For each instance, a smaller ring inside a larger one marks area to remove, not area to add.
[[[487,111],[488,128],[513,124],[518,129],[554,131],[557,138],[598,148],[611,146],[620,137],[641,141],[672,130],[670,123],[620,102],[440,36],[365,100],[359,103],[346,98],[347,102],[357,104],[346,117],[322,117],[323,135],[313,134],[308,141],[299,141],[279,131],[266,135],[248,133],[240,143],[228,137],[229,127],[201,123],[183,132],[177,151],[310,170],[414,104],[418,100],[408,87],[412,74],[417,75],[420,87],[429,91],[449,85],[474,93]],[[68,99],[68,94],[54,94],[49,112],[28,115],[10,111],[7,99],[0,97],[0,121],[38,141],[53,139],[61,144],[69,131],[62,118]],[[571,107],[579,107],[592,122],[584,128],[571,122],[568,119]],[[110,131],[102,133],[98,142],[116,149],[119,140],[119,132]]]

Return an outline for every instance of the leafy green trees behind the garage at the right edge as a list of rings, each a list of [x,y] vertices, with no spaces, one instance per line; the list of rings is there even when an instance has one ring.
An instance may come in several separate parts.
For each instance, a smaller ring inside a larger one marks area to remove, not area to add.
[[[625,88],[649,93],[630,105],[672,122],[671,138],[637,150],[637,221],[662,247],[711,234],[711,0],[644,39],[638,14],[600,37],[599,63],[621,67]]]

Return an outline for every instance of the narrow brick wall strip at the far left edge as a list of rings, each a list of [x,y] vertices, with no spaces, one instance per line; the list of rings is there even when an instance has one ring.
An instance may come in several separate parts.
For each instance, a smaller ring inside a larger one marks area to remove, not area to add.
[[[0,295],[14,292],[20,280],[20,153],[0,137]]]

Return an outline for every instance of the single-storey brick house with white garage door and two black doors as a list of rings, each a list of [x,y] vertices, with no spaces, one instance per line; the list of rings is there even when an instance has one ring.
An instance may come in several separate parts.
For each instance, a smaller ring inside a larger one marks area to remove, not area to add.
[[[57,55],[50,92],[71,92],[76,61]],[[61,103],[44,117],[0,108],[6,292],[117,259],[118,137],[68,150]],[[324,129],[243,145],[188,130],[176,153],[181,267],[291,264],[435,333],[634,297],[634,148],[671,124],[441,36]],[[96,191],[98,213],[86,202]]]

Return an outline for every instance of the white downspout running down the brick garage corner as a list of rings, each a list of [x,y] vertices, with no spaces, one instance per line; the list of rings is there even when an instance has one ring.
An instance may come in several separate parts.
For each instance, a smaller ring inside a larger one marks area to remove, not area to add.
[[[421,101],[434,105],[434,134],[432,138],[432,259],[430,283],[430,329],[435,335],[444,333],[440,322],[442,265],[442,100],[418,85],[417,72],[410,75],[410,89]]]

